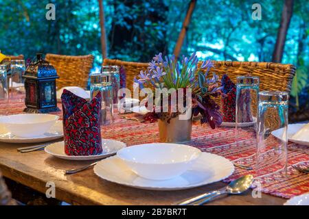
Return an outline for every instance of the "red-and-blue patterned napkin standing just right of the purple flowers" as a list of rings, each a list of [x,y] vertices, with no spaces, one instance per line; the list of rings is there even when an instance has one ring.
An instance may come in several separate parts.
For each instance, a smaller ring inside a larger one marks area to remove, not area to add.
[[[236,86],[227,75],[223,75],[222,84],[222,116],[223,122],[235,123],[236,121]]]

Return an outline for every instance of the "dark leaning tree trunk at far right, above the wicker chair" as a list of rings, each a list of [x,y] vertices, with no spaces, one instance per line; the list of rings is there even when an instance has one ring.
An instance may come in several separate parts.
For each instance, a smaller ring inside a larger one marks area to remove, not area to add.
[[[284,52],[284,44],[286,42],[286,34],[288,33],[288,26],[290,25],[290,18],[293,14],[294,0],[285,0],[282,10],[280,26],[278,29],[275,49],[273,51],[273,62],[282,62],[282,55]]]

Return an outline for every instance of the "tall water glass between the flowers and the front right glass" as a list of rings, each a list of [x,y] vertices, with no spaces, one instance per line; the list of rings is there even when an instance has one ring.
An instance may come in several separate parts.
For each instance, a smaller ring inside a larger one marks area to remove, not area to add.
[[[258,118],[259,77],[237,77],[236,83],[236,150],[247,153],[247,165],[255,165]]]

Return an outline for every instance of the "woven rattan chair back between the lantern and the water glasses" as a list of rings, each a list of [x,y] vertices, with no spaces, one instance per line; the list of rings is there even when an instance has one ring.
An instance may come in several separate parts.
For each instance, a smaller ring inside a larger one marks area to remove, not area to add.
[[[93,65],[93,55],[56,55],[47,53],[45,60],[57,71],[57,88],[78,86],[87,88],[89,73]]]

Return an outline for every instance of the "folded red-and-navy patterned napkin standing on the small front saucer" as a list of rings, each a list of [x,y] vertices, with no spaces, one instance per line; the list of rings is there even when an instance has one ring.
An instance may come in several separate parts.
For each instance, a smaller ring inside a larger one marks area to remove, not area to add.
[[[61,95],[65,153],[70,156],[102,153],[100,131],[101,92],[91,101],[76,96],[69,90]]]

